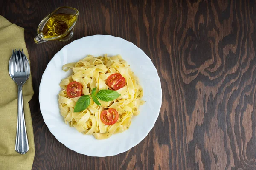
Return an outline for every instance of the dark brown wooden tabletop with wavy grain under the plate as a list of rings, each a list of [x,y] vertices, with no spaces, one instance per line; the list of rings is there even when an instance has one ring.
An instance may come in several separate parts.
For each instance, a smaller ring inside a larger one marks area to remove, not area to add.
[[[80,11],[68,42],[33,38],[59,6]],[[0,14],[25,28],[35,95],[33,170],[256,170],[256,2],[253,0],[44,0],[0,2]],[[42,118],[39,84],[64,45],[94,34],[122,37],[157,68],[160,116],[148,136],[117,156],[67,149]]]

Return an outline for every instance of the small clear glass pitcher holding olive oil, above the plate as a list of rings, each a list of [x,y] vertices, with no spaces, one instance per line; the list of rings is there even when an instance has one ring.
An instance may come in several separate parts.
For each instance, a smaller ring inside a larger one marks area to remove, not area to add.
[[[49,40],[68,41],[73,37],[79,11],[71,7],[59,7],[40,22],[34,38],[40,44]]]

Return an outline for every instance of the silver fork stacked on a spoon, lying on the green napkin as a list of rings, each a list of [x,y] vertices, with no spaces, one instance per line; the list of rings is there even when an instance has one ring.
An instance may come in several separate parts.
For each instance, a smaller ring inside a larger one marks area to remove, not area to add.
[[[17,153],[25,154],[29,151],[29,142],[26,133],[26,124],[23,109],[22,87],[29,78],[30,67],[29,60],[23,50],[12,50],[12,56],[9,61],[10,77],[18,85],[18,118],[15,150]]]

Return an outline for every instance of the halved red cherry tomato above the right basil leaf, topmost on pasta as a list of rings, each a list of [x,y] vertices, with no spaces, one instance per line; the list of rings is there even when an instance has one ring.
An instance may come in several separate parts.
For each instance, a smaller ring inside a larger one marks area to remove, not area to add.
[[[108,77],[108,86],[114,90],[118,90],[125,86],[125,78],[120,73],[111,74]]]

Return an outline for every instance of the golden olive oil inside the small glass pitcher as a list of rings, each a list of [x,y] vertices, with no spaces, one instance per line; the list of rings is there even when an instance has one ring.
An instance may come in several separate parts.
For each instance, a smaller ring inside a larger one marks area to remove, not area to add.
[[[72,27],[77,17],[70,14],[54,14],[45,23],[42,30],[39,33],[43,36],[42,38],[53,38],[64,34]],[[60,37],[63,38],[63,37]]]

